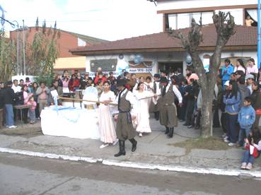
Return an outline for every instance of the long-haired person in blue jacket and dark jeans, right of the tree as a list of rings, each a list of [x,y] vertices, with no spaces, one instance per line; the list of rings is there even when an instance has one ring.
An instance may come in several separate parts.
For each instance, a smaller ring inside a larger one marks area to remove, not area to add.
[[[228,139],[224,141],[228,146],[235,146],[237,141],[238,112],[240,109],[240,92],[235,81],[229,82],[229,93],[224,95],[223,102],[226,105],[226,128]]]

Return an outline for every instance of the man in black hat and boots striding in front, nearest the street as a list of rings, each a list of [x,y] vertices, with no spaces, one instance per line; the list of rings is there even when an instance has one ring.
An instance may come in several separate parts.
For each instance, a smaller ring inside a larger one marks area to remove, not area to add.
[[[134,98],[132,92],[127,90],[125,87],[126,84],[126,79],[117,79],[117,90],[119,90],[120,93],[116,98],[119,111],[117,117],[116,135],[119,139],[120,151],[114,155],[115,157],[126,154],[125,141],[127,139],[129,139],[129,141],[132,143],[132,152],[134,152],[137,148],[137,141],[134,139],[136,136],[136,131],[132,125],[132,119],[135,119],[136,116],[134,116],[135,114],[133,116],[130,114],[132,107],[134,111],[132,113],[135,113],[137,100]]]

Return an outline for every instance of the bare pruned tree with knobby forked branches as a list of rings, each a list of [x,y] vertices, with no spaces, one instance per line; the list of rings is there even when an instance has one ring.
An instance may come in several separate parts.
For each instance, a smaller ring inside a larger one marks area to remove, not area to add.
[[[214,85],[221,64],[221,52],[231,35],[235,34],[235,22],[231,13],[219,11],[213,13],[213,22],[216,27],[216,48],[209,61],[209,73],[205,73],[202,59],[199,57],[199,45],[203,41],[202,19],[199,24],[192,18],[191,30],[187,36],[177,30],[168,30],[168,33],[181,40],[184,49],[192,57],[195,72],[201,80],[202,89],[202,136],[212,135],[212,101],[214,100]],[[213,91],[213,93],[211,93]]]

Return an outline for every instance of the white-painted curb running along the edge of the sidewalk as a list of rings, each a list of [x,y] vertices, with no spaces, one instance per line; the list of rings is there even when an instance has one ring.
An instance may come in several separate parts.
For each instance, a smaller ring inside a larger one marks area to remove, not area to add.
[[[54,153],[38,153],[29,150],[18,150],[11,148],[0,148],[1,153],[12,153],[19,155],[28,155],[40,158],[51,158],[51,159],[62,159],[70,161],[83,161],[89,163],[101,162],[103,165],[117,166],[117,167],[129,167],[137,169],[147,170],[162,170],[162,171],[173,171],[173,172],[188,172],[198,174],[211,174],[211,175],[224,175],[224,176],[247,176],[261,178],[260,171],[246,171],[246,170],[226,170],[226,169],[215,169],[215,168],[200,168],[200,167],[185,167],[185,166],[170,166],[170,165],[153,165],[142,162],[130,162],[120,160],[105,160],[101,158],[89,158],[74,155],[57,155]]]

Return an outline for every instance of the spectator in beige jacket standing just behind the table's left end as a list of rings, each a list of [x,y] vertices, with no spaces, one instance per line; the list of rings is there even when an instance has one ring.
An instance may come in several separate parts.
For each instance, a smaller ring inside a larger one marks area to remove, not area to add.
[[[40,87],[36,90],[36,95],[38,95],[37,102],[39,103],[39,112],[41,114],[42,109],[47,107],[47,100],[50,90],[45,86],[44,82],[40,82]]]

